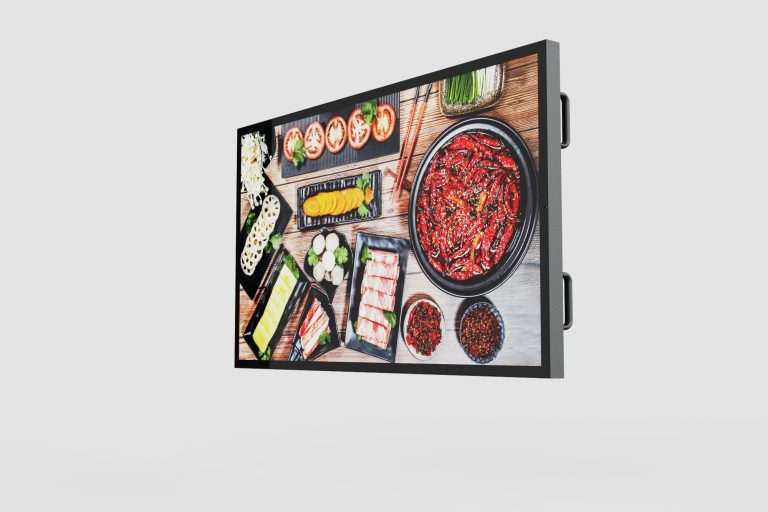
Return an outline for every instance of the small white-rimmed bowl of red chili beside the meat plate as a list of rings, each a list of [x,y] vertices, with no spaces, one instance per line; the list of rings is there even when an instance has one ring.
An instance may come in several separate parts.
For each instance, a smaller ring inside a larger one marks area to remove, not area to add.
[[[420,361],[431,359],[445,338],[443,312],[429,299],[411,304],[403,322],[405,346]]]

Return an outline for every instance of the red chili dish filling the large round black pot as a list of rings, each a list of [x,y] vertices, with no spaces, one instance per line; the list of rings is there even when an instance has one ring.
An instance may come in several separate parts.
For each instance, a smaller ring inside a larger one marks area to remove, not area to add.
[[[416,229],[429,264],[465,281],[487,274],[519,221],[520,173],[504,143],[484,132],[453,137],[432,158],[416,203]]]

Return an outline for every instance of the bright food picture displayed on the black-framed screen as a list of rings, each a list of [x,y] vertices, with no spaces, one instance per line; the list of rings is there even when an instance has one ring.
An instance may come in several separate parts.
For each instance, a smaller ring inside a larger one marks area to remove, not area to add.
[[[236,365],[541,367],[541,64],[239,131]]]

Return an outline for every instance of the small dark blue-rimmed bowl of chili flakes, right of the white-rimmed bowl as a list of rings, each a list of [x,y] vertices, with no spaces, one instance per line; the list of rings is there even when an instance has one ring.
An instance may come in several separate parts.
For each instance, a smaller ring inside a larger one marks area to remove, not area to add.
[[[504,320],[490,302],[472,304],[461,317],[459,344],[478,364],[493,361],[504,344]]]

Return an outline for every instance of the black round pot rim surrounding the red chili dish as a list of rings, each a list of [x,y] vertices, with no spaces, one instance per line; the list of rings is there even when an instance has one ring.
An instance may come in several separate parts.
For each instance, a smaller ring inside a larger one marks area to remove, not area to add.
[[[515,157],[515,161],[520,169],[520,183],[524,190],[520,199],[520,210],[523,212],[522,223],[518,225],[512,240],[507,246],[504,257],[487,274],[467,279],[466,281],[456,281],[449,279],[437,270],[432,268],[429,260],[424,253],[424,249],[419,242],[419,235],[416,231],[416,201],[419,196],[421,180],[429,166],[429,162],[435,153],[443,147],[454,136],[463,132],[485,132],[499,137],[510,149]],[[538,187],[536,167],[533,165],[533,158],[528,151],[528,147],[520,135],[506,123],[491,117],[474,117],[465,119],[450,126],[440,136],[435,139],[416,171],[416,177],[413,180],[411,188],[411,199],[408,208],[408,231],[413,241],[413,252],[416,255],[416,261],[432,283],[451,295],[458,297],[476,297],[488,293],[501,286],[523,261],[528,247],[533,239],[533,231],[536,227],[536,216],[538,215]]]

